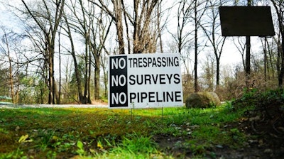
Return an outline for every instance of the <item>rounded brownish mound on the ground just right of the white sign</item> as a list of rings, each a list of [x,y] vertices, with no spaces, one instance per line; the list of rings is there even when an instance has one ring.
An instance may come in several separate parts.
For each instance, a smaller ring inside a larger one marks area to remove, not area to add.
[[[219,105],[221,105],[220,99],[214,92],[192,93],[185,102],[187,108],[211,108]]]

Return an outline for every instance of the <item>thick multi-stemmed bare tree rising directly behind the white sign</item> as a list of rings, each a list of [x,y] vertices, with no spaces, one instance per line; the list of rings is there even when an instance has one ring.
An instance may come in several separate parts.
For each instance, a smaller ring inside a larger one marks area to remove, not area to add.
[[[162,0],[134,0],[133,3],[129,3],[128,6],[121,0],[111,1],[111,6],[108,6],[107,2],[102,0],[99,0],[99,3],[97,3],[97,1],[92,2],[108,13],[114,20],[116,24],[117,41],[119,43],[119,53],[124,54],[124,26],[126,26],[129,52],[131,50],[131,41],[133,53],[155,52],[162,27],[159,21],[161,11],[156,10],[161,1]],[[159,21],[159,23],[155,20]],[[158,25],[155,22],[157,22]],[[129,26],[133,26],[133,28],[129,28]],[[131,31],[133,33],[132,38],[129,35]]]

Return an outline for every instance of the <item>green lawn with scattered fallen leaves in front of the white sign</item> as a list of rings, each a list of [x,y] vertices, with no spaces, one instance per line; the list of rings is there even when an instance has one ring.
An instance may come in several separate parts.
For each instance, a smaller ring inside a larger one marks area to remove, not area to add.
[[[173,145],[199,158],[216,145],[237,148],[246,136],[224,126],[244,110],[0,109],[0,158],[175,158],[153,136],[184,138]],[[182,155],[181,155],[182,156]]]

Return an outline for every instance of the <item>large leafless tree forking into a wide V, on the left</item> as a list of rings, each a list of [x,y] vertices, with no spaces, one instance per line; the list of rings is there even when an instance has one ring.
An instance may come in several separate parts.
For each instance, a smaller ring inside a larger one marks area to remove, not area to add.
[[[41,10],[37,11],[29,6],[31,4],[27,4],[24,0],[22,0],[22,3],[27,10],[28,17],[31,17],[33,21],[35,21],[36,25],[40,28],[40,31],[42,31],[45,37],[45,57],[48,65],[48,104],[55,104],[55,102],[59,101],[54,77],[55,37],[62,18],[65,0],[41,0],[41,2]]]

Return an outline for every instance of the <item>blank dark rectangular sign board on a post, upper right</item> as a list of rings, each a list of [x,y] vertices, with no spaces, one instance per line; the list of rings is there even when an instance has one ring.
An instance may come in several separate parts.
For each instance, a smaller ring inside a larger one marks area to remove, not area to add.
[[[270,6],[220,6],[223,36],[275,35]]]

